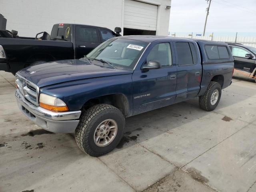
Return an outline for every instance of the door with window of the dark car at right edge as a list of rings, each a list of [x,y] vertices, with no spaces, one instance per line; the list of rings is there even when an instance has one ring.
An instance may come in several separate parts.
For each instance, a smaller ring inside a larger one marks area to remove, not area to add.
[[[255,56],[249,59],[245,57],[246,54],[252,54],[248,50],[237,46],[230,46],[230,48],[234,58],[234,68],[251,73],[254,69]]]

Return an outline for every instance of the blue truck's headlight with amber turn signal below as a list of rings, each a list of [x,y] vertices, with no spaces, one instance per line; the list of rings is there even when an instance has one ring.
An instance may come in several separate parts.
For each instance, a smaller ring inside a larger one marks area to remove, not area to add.
[[[68,107],[62,100],[54,96],[46,95],[44,93],[41,93],[39,96],[39,105],[42,108],[55,112],[68,111]]]

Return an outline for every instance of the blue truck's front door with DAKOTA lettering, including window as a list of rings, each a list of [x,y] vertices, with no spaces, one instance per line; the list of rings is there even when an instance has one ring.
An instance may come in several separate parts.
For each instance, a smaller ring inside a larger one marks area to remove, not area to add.
[[[167,106],[176,95],[177,70],[172,62],[170,43],[152,44],[142,66],[150,60],[158,61],[161,67],[150,70],[139,68],[132,75],[134,114]]]

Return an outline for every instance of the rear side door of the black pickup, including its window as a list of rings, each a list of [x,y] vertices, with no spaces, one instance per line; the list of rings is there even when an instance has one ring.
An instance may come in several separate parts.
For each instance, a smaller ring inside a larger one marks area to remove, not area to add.
[[[76,26],[75,38],[77,59],[84,57],[101,43],[96,27]]]

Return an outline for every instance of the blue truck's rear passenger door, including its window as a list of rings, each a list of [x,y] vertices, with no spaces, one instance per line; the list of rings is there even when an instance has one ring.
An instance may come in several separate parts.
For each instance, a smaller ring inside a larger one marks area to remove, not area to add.
[[[176,100],[181,102],[195,97],[200,90],[202,66],[195,42],[174,42],[177,60]]]

